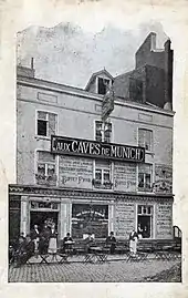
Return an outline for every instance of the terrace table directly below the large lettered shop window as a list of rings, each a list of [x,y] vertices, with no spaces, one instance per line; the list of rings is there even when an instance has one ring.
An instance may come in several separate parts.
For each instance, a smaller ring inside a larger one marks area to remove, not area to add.
[[[107,254],[101,247],[90,247],[90,251],[85,255],[84,263],[105,263],[107,260]]]

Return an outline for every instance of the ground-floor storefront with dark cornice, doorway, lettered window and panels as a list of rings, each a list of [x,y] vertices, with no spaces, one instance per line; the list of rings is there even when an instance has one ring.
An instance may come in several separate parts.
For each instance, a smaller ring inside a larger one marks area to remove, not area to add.
[[[143,238],[173,238],[173,197],[170,195],[127,195],[104,192],[50,189],[44,187],[10,186],[10,194],[20,198],[17,222],[20,232],[28,234],[34,224],[43,228],[46,220],[55,223],[59,239],[67,232],[74,239],[92,233],[104,239],[111,230],[117,238],[128,239],[138,224]],[[48,197],[46,197],[48,195]],[[18,233],[10,234],[12,237]],[[14,234],[14,235],[13,235]]]

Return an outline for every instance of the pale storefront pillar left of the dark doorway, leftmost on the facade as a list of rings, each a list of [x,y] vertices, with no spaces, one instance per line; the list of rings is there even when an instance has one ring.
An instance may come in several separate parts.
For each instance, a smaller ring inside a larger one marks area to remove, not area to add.
[[[21,196],[21,218],[20,218],[20,233],[25,236],[29,234],[29,198]]]

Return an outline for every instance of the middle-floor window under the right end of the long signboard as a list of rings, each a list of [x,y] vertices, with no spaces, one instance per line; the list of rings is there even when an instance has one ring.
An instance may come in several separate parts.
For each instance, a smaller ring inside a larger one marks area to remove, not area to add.
[[[153,166],[149,164],[138,165],[138,191],[152,191]]]

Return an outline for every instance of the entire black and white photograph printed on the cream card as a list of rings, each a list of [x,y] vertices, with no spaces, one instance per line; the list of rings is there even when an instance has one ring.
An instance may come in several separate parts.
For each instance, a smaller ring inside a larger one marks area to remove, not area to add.
[[[181,282],[175,56],[149,20],[17,32],[9,282]]]

